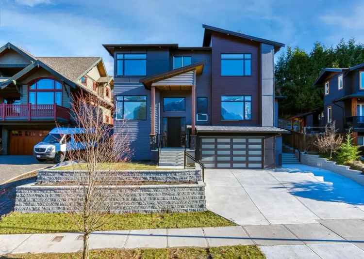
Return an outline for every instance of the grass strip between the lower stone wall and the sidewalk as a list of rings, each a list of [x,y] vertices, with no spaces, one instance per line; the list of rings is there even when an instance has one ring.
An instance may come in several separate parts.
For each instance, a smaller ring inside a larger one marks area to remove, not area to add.
[[[114,214],[100,230],[176,229],[235,226],[210,211],[196,213]],[[0,234],[77,232],[66,213],[10,213],[0,220]]]

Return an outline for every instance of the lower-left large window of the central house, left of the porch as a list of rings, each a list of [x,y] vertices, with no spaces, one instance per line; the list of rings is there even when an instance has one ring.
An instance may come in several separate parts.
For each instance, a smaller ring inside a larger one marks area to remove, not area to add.
[[[116,120],[146,120],[147,96],[116,96]]]

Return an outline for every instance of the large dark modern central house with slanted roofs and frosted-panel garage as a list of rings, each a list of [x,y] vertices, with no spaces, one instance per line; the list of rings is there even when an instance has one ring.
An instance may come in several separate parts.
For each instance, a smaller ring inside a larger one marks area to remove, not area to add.
[[[185,145],[208,168],[274,168],[274,54],[284,44],[203,25],[203,44],[103,45],[115,61],[114,131],[133,159]],[[160,141],[162,139],[162,142]]]

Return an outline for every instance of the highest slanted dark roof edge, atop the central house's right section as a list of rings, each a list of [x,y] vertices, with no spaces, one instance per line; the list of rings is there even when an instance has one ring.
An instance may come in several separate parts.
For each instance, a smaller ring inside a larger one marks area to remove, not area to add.
[[[261,43],[273,45],[275,52],[279,51],[281,47],[285,46],[283,43],[280,43],[280,42],[271,41],[271,40],[267,40],[267,39],[263,39],[263,38],[258,38],[258,37],[250,36],[250,35],[247,35],[247,34],[235,32],[235,31],[232,31],[232,30],[224,30],[224,29],[213,27],[213,26],[206,25],[206,24],[202,24],[202,28],[205,29],[205,33],[203,34],[202,46],[210,46],[211,32],[212,31],[223,33],[223,34],[226,34],[226,35],[232,35],[232,36],[235,36],[235,37],[239,37],[239,38],[243,38],[243,39],[247,39],[247,40],[251,40],[251,41],[256,41],[256,42],[261,42]]]

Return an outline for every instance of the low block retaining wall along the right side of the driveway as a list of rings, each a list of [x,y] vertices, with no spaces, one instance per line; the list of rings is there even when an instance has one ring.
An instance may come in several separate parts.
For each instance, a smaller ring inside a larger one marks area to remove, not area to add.
[[[362,174],[361,171],[352,170],[348,166],[336,165],[336,162],[328,161],[326,158],[319,157],[318,155],[310,155],[301,152],[301,163],[312,167],[330,170],[345,176],[354,182],[364,185],[364,174]]]

